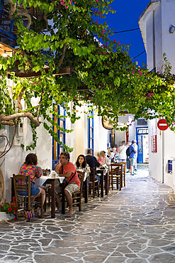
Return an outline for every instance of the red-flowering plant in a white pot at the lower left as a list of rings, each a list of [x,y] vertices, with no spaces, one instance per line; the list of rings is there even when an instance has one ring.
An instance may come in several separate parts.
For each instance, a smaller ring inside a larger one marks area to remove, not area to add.
[[[16,209],[17,203],[15,201],[15,197],[13,197],[13,202],[0,205],[0,221],[2,220],[16,220]]]

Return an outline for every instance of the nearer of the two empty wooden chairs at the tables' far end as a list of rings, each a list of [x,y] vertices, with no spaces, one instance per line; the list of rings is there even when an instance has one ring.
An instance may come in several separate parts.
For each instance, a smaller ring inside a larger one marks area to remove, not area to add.
[[[116,187],[119,190],[122,188],[122,168],[123,165],[120,163],[111,163],[111,185],[113,190],[113,185],[116,183]]]

